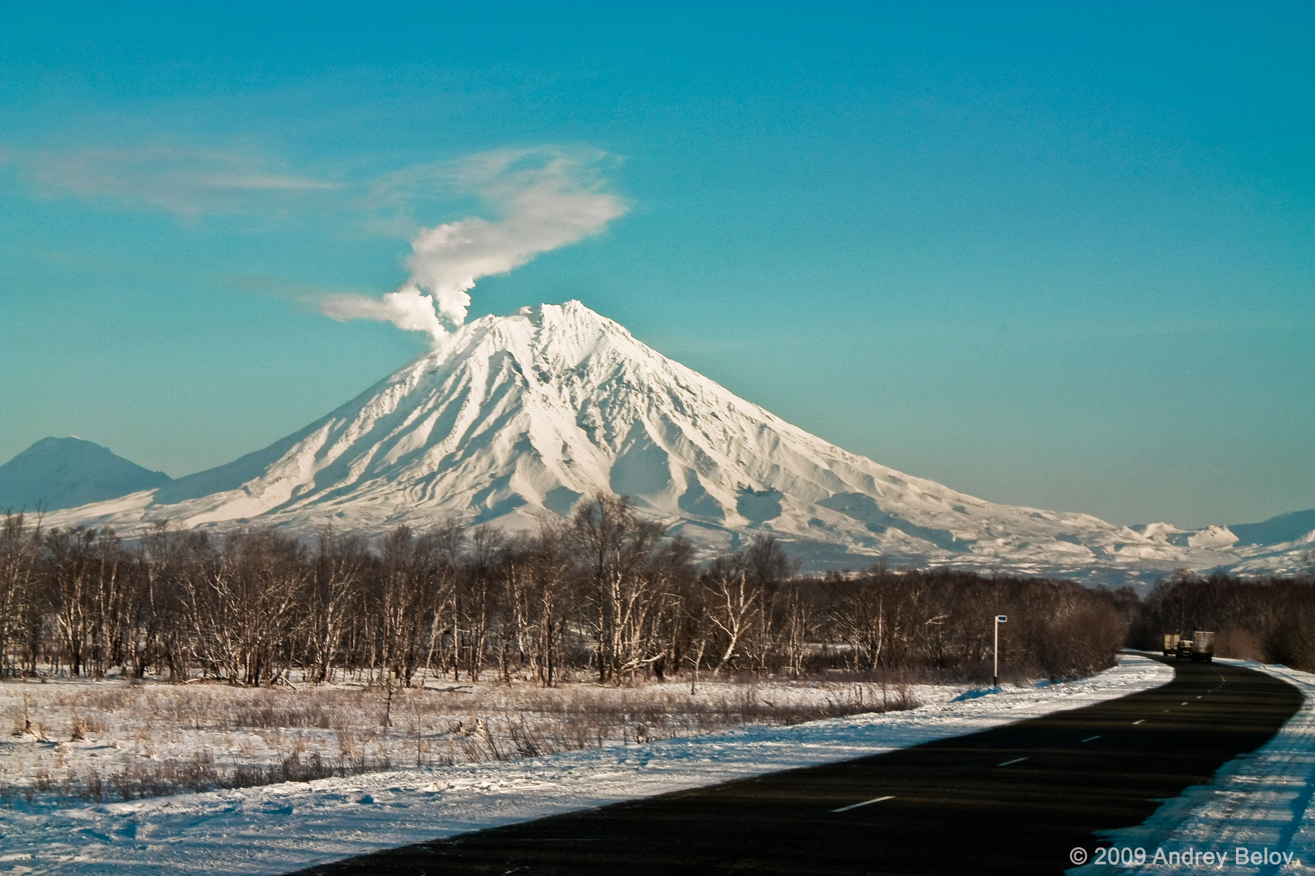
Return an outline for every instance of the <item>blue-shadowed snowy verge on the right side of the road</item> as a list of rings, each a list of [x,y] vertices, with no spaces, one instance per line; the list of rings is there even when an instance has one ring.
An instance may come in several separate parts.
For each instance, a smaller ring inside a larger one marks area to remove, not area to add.
[[[1143,850],[1147,863],[1111,867],[1088,863],[1069,876],[1111,872],[1286,873],[1315,868],[1315,674],[1253,661],[1216,658],[1281,678],[1304,701],[1269,742],[1230,760],[1208,785],[1166,800],[1135,827],[1102,831],[1116,848]],[[1202,862],[1205,854],[1214,860]],[[1245,855],[1247,862],[1240,858]],[[1191,863],[1184,862],[1190,856]],[[1266,863],[1264,859],[1269,858]]]

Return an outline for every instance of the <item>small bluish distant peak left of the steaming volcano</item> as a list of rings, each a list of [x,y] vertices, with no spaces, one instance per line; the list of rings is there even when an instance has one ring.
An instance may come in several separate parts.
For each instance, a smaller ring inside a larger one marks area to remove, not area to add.
[[[0,510],[75,508],[168,481],[163,471],[145,469],[99,444],[46,437],[0,465]]]

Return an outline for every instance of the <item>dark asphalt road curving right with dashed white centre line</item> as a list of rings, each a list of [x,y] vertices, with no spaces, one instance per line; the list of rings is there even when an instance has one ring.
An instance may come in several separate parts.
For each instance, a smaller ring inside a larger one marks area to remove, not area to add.
[[[554,816],[302,873],[1060,873],[1265,743],[1286,682],[1166,661],[1119,700],[889,754]]]

